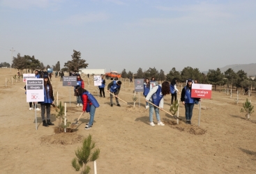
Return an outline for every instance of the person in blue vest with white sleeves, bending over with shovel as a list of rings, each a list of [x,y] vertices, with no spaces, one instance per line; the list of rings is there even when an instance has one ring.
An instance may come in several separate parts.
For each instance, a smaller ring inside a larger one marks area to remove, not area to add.
[[[153,111],[155,110],[158,125],[164,126],[163,122],[160,121],[159,109],[163,109],[163,97],[167,94],[170,94],[170,84],[168,81],[164,81],[162,85],[153,87],[149,94],[146,95],[146,102],[149,102],[149,125],[155,126],[153,123]],[[153,106],[151,103],[158,107]]]

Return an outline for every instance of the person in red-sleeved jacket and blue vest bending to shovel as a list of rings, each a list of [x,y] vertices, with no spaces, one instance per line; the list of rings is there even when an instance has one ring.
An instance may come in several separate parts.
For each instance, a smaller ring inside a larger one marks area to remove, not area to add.
[[[83,104],[83,109],[82,109],[83,113],[85,111],[90,113],[89,123],[86,124],[84,129],[91,129],[91,127],[93,126],[93,120],[94,120],[96,108],[98,108],[100,104],[98,104],[96,98],[93,97],[93,95],[91,95],[91,93],[89,93],[88,90],[85,90],[81,86],[79,85],[75,86],[75,91],[77,96],[81,97],[82,104]]]

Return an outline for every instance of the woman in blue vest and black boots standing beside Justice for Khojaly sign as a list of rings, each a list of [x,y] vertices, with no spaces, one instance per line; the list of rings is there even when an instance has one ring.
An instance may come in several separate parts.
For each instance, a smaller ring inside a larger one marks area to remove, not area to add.
[[[40,102],[41,104],[41,118],[43,120],[43,126],[48,127],[48,125],[54,125],[51,120],[51,104],[54,104],[54,95],[52,90],[52,84],[49,80],[48,74],[43,75],[44,81],[44,101]],[[45,121],[45,109],[47,122]]]

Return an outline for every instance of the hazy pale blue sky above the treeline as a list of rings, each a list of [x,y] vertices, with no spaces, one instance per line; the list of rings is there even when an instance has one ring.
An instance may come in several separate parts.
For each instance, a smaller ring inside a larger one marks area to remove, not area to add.
[[[169,72],[256,63],[255,0],[0,0],[0,62],[82,53],[88,68]]]

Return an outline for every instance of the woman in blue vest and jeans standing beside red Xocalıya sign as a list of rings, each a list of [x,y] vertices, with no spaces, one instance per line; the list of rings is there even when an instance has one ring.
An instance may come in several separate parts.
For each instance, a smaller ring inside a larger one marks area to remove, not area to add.
[[[193,108],[195,103],[200,101],[199,98],[191,97],[191,87],[192,87],[193,80],[188,79],[187,85],[181,91],[181,102],[185,105],[185,115],[186,115],[186,124],[191,125],[191,118],[193,115]]]

